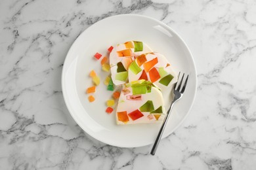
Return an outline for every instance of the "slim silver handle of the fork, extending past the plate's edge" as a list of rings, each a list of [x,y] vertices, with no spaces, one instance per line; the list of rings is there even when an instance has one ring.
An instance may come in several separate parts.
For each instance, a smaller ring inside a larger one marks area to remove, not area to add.
[[[167,124],[167,120],[171,114],[171,110],[173,109],[173,103],[174,102],[171,102],[171,106],[169,107],[168,111],[167,111],[167,115],[165,116],[164,120],[163,120],[163,124],[161,125],[161,128],[160,128],[160,131],[158,133],[158,137],[156,137],[156,141],[153,145],[153,148],[150,152],[150,154],[154,155],[156,153],[156,149],[158,148],[158,144],[160,143],[161,141],[161,135],[163,135],[163,130],[165,129],[165,126]]]

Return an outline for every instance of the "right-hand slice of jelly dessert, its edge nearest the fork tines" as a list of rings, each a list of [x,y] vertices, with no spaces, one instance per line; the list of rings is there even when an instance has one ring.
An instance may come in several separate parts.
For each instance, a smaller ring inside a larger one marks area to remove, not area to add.
[[[177,82],[177,76],[171,69],[165,56],[158,52],[141,54],[131,63],[128,69],[129,82],[149,80],[164,91]]]

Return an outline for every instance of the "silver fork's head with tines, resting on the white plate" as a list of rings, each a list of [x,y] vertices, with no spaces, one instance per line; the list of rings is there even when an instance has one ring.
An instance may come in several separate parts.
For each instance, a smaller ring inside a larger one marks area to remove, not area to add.
[[[182,85],[182,82],[183,82],[183,79],[184,79],[184,73],[183,73],[182,78],[179,82],[180,75],[181,75],[181,72],[179,73],[178,80],[174,84],[174,87],[173,87],[173,93],[175,95],[173,101],[177,101],[177,100],[181,99],[181,97],[182,97],[182,95],[183,95],[183,93],[186,89],[186,84],[188,82],[188,75],[187,75],[186,80],[185,80],[184,84]],[[179,84],[178,87],[177,87],[177,84]]]

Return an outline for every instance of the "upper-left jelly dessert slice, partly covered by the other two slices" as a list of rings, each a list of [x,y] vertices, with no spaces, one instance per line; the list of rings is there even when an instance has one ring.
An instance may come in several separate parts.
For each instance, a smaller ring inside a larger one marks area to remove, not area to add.
[[[127,41],[117,44],[110,53],[111,77],[116,85],[128,80],[128,68],[135,58],[152,50],[144,42]]]

